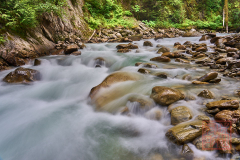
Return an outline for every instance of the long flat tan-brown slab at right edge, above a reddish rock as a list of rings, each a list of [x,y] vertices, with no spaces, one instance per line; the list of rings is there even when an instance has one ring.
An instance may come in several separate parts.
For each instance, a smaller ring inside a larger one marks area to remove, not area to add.
[[[206,107],[208,109],[214,109],[214,108],[238,109],[239,102],[238,100],[220,100],[220,101],[209,102],[206,104]]]

